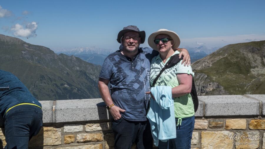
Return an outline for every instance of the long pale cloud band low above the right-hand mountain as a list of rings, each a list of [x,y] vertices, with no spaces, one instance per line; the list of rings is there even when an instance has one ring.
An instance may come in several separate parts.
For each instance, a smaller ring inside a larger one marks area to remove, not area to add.
[[[265,40],[265,34],[186,38],[180,40],[181,40],[180,46],[182,47],[196,47],[198,46],[198,43],[204,43],[204,46],[206,47],[223,47],[228,44]]]

